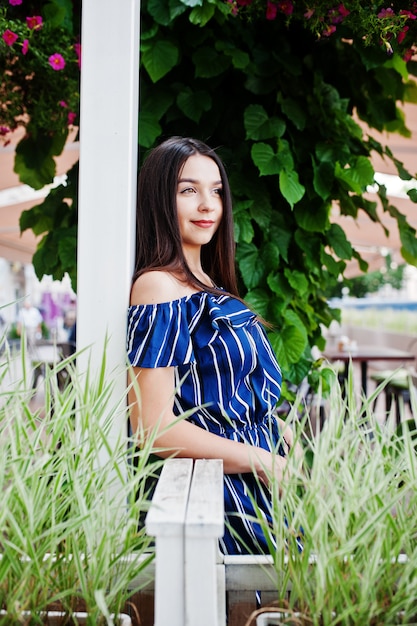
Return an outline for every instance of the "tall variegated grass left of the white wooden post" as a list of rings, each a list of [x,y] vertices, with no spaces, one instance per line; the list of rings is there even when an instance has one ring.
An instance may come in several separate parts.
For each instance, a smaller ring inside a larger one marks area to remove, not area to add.
[[[149,507],[146,479],[160,462],[150,461],[151,442],[142,441],[137,451],[126,433],[111,436],[126,398],[112,400],[105,355],[97,376],[77,376],[73,359],[47,372],[44,404],[36,409],[30,376],[10,383],[8,361],[6,351],[0,364],[0,608],[7,615],[0,624],[29,623],[24,612],[31,624],[43,623],[51,605],[72,616],[80,603],[88,625],[111,624],[144,584],[138,576],[154,558],[138,520]],[[63,368],[71,370],[71,383],[59,389]]]

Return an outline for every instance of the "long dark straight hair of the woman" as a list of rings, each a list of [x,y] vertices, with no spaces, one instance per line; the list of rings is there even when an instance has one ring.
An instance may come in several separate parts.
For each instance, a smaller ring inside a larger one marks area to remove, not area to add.
[[[145,271],[164,269],[183,277],[197,289],[207,290],[207,286],[194,276],[185,260],[176,206],[182,166],[194,154],[213,159],[219,168],[223,186],[223,217],[213,239],[202,247],[202,267],[216,285],[237,296],[232,198],[226,170],[212,148],[188,137],[167,139],[149,153],[141,167],[133,280]],[[213,288],[212,291],[218,290]]]

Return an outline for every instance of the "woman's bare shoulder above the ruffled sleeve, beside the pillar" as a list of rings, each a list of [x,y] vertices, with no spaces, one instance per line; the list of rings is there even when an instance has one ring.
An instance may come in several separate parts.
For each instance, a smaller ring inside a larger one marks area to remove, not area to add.
[[[187,295],[187,288],[169,272],[145,272],[133,284],[130,304],[160,304]]]

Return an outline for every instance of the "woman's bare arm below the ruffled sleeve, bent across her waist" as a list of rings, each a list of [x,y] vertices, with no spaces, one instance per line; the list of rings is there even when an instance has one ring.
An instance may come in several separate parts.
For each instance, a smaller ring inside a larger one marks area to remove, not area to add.
[[[155,433],[154,446],[162,449],[162,457],[193,459],[222,459],[226,474],[255,471],[267,484],[268,474],[274,472],[279,481],[286,465],[285,458],[267,450],[225,439],[186,420],[178,421],[173,413],[175,393],[172,367],[133,368],[139,387],[129,392],[130,420],[134,432],[142,427],[145,436]]]

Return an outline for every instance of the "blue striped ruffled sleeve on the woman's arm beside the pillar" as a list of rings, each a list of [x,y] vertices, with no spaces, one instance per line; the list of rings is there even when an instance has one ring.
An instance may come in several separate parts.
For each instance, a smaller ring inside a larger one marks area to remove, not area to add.
[[[127,353],[135,367],[169,367],[194,361],[185,300],[129,307]]]

